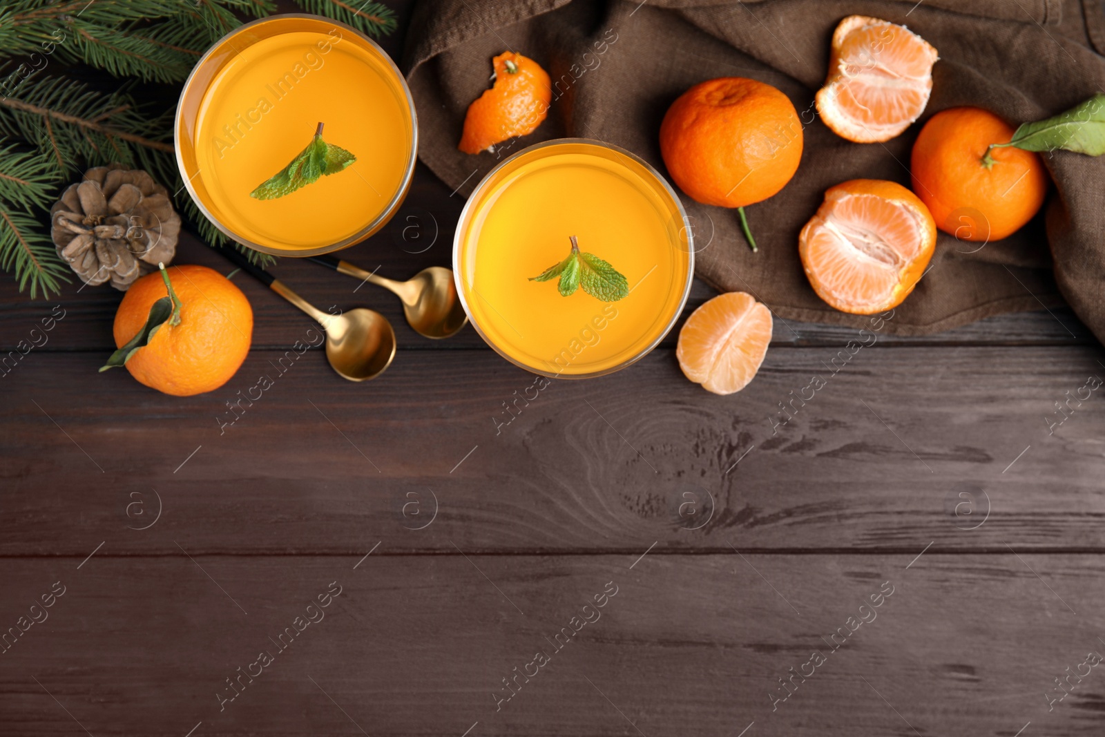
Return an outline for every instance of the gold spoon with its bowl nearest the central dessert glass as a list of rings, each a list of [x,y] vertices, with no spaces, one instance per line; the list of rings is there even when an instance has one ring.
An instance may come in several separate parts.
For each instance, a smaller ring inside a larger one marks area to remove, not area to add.
[[[361,282],[371,282],[394,293],[403,302],[407,322],[419,335],[427,338],[448,338],[455,335],[469,322],[461,301],[456,298],[453,272],[443,266],[430,266],[411,280],[394,282],[335,256],[311,256],[308,261],[328,266],[339,274],[355,276]]]

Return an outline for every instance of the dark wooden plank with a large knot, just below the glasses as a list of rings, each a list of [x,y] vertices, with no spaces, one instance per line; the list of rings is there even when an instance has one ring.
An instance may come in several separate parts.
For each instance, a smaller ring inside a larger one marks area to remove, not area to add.
[[[1105,549],[1088,347],[771,350],[730,397],[666,350],[545,389],[490,351],[400,354],[366,385],[254,351],[188,399],[101,358],[32,352],[3,379],[0,554]]]

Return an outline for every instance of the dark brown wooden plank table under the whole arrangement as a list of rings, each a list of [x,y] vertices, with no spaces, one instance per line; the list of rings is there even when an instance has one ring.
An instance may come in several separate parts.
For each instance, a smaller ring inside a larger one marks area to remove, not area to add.
[[[461,206],[420,167],[343,255],[449,265]],[[4,355],[42,344],[0,380],[0,734],[1103,734],[1105,367],[1069,310],[880,334],[835,373],[855,330],[779,320],[725,398],[673,333],[535,399],[471,328],[273,271],[389,317],[391,369],[297,355],[317,326],[239,275],[245,365],[166,397],[96,372],[118,293],[0,281]]]

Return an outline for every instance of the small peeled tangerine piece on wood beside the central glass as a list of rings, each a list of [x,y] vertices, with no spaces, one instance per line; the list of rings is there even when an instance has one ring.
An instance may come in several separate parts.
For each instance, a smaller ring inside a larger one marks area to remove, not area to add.
[[[771,312],[744,292],[722,294],[691,314],[675,357],[683,373],[715,394],[740,391],[771,341]]]

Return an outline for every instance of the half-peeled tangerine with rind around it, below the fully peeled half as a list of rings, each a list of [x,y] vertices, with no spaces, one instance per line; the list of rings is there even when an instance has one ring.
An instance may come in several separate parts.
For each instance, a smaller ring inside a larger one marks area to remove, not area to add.
[[[875,179],[829,188],[798,236],[813,291],[856,315],[902,304],[935,248],[936,223],[925,203],[901,185]]]

